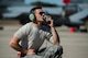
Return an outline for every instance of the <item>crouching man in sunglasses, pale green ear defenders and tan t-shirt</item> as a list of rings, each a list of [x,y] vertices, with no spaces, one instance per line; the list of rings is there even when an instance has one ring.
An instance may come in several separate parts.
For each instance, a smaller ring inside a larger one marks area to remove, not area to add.
[[[32,22],[23,25],[10,40],[9,45],[21,53],[21,58],[59,58],[62,56],[63,48],[53,20],[47,16],[51,23],[46,23],[44,16],[45,12],[42,8],[33,8],[30,13]],[[40,47],[45,39],[53,45],[41,51]]]

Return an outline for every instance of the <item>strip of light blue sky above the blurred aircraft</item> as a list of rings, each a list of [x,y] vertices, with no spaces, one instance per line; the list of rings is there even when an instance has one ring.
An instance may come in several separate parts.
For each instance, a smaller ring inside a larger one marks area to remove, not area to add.
[[[63,4],[62,0],[24,0],[24,3],[29,4],[34,1],[43,1],[43,2],[50,2],[55,4]]]

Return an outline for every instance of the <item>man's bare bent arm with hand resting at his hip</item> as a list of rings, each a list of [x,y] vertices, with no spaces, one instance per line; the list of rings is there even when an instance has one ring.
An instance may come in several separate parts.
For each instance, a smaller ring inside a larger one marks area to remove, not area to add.
[[[12,37],[12,39],[10,40],[9,45],[15,49],[16,51],[21,51],[21,54],[25,54],[25,55],[35,55],[35,50],[34,49],[24,49],[19,45],[20,39],[18,37]]]

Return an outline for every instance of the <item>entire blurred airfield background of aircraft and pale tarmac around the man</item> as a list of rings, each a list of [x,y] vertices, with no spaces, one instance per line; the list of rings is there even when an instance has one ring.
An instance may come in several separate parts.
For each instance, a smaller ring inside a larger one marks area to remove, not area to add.
[[[52,15],[64,47],[63,58],[88,58],[88,0],[0,0],[0,58],[19,58],[8,44],[16,30],[31,22],[33,7]]]

